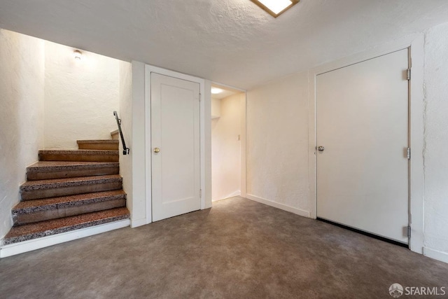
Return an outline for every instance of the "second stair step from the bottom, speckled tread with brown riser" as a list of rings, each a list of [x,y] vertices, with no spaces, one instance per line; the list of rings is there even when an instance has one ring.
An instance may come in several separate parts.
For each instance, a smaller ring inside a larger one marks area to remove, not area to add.
[[[13,207],[14,225],[75,216],[126,206],[126,193],[113,190],[97,193],[27,200]]]

